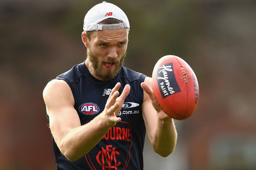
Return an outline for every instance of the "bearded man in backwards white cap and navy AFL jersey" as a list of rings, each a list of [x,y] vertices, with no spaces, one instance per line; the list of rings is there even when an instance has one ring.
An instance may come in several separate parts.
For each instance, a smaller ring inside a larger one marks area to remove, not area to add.
[[[142,170],[145,132],[156,153],[173,152],[175,125],[159,108],[152,79],[122,66],[129,28],[116,5],[91,8],[82,33],[85,62],[46,85],[57,170]]]

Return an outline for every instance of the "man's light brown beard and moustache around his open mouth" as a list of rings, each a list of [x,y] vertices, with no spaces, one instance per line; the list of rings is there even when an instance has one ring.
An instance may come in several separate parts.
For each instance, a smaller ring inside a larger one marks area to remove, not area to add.
[[[89,60],[89,67],[91,69],[91,74],[96,75],[97,77],[103,80],[114,79],[118,74],[120,68],[123,66],[124,59],[126,56],[125,52],[119,58],[108,58],[99,60],[100,56],[94,55],[90,49],[90,46],[87,48],[87,60]],[[105,68],[102,65],[106,63],[115,63],[114,68]]]

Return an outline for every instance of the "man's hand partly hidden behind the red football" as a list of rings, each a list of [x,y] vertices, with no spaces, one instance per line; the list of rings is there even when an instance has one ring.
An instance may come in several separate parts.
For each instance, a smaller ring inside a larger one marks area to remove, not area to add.
[[[152,103],[154,109],[156,110],[156,112],[158,113],[159,118],[162,120],[170,119],[170,117],[167,114],[165,114],[165,112],[163,112],[161,107],[158,105],[155,95],[154,95],[154,91],[152,90],[152,88],[145,82],[141,83],[141,87],[147,93],[147,95],[150,97],[151,103]]]

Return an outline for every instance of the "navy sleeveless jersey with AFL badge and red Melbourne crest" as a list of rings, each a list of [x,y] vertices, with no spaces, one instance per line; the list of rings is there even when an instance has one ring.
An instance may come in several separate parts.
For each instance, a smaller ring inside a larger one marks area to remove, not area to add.
[[[121,83],[119,93],[129,84],[130,93],[118,117],[121,122],[110,128],[100,142],[85,156],[70,162],[59,151],[54,139],[53,150],[57,170],[142,170],[145,124],[142,117],[143,89],[140,86],[146,75],[121,67],[118,75],[107,82],[94,78],[85,62],[56,79],[68,83],[75,100],[75,109],[81,125],[99,115],[106,104],[111,89]]]

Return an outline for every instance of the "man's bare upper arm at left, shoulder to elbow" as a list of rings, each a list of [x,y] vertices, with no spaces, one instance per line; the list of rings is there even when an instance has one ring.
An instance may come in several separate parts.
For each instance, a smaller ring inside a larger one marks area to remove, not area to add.
[[[69,85],[63,80],[49,82],[43,91],[43,98],[49,126],[58,144],[69,130],[81,125],[74,108],[74,98]]]

